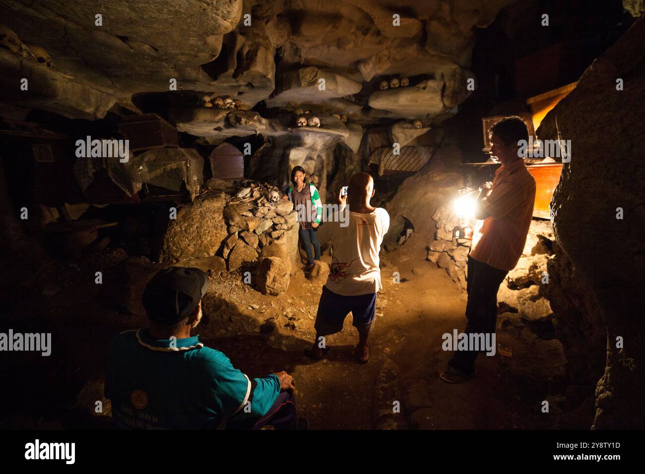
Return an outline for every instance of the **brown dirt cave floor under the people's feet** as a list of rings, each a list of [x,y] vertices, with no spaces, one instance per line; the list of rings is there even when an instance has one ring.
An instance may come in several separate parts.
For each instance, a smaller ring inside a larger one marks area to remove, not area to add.
[[[358,336],[351,315],[341,333],[327,337],[332,350],[323,360],[304,355],[315,337],[323,282],[309,281],[302,270],[277,297],[244,284],[237,273],[213,277],[197,333],[250,377],[281,370],[292,374],[299,415],[309,420],[310,429],[559,426],[556,413],[542,411],[542,401],[564,381],[566,361],[557,341],[531,331],[517,315],[503,313],[497,342],[510,348],[510,357],[499,351],[492,357],[480,355],[476,377],[447,384],[438,377],[452,355],[441,348],[442,334],[464,330],[464,295],[445,270],[410,259],[403,247],[382,259],[384,288],[377,298],[368,364],[353,358]],[[330,261],[326,255],[322,260]],[[90,275],[86,268],[74,271]],[[400,273],[398,283],[394,271]],[[93,409],[100,398],[96,392],[102,386],[106,348],[116,333],[144,326],[145,319],[104,309],[92,278],[81,280],[84,286],[77,281],[26,302],[20,321],[14,320],[14,328],[23,331],[51,331],[54,350],[46,358],[21,354],[20,363],[10,364],[10,380],[21,390],[5,400],[12,410],[3,413],[2,426],[105,426]]]

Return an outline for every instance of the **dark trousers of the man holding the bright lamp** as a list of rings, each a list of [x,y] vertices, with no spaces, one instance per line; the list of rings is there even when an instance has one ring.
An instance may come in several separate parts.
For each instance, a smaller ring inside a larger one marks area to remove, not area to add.
[[[468,255],[468,275],[466,277],[466,330],[464,333],[495,333],[497,324],[497,291],[506,277],[506,271],[497,270],[490,265],[477,261]],[[475,371],[478,351],[455,351],[450,364],[464,373]]]

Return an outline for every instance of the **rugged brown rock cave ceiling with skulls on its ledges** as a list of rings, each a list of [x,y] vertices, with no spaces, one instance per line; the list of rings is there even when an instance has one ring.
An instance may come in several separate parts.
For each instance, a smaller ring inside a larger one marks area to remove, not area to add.
[[[311,110],[323,125],[335,123],[333,114],[360,124],[441,119],[470,94],[468,79],[476,79],[474,29],[490,25],[510,3],[0,0],[5,25],[53,63],[46,68],[0,49],[0,100],[97,119],[115,108],[147,112],[137,97],[173,94],[168,115],[196,136],[235,126],[235,117],[200,110],[204,95],[237,99],[239,109],[262,114],[245,124],[253,133],[283,132],[284,119],[272,124],[264,116],[271,110]],[[37,86],[16,96],[7,77],[20,74]]]

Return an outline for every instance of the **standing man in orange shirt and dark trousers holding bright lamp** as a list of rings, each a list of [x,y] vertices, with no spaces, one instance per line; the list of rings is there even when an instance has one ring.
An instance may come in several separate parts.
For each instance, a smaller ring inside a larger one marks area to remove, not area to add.
[[[480,188],[475,206],[478,221],[468,255],[466,286],[467,335],[495,333],[497,291],[522,255],[535,202],[535,179],[518,152],[519,141],[528,141],[526,124],[519,117],[507,117],[491,126],[489,135],[491,157],[502,166],[493,183]],[[440,375],[443,380],[459,383],[475,375],[478,351],[468,349],[455,352]]]

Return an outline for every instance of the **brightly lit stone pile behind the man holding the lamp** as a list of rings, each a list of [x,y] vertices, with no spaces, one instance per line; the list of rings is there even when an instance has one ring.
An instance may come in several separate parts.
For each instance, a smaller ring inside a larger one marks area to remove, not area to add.
[[[426,260],[446,269],[452,281],[465,292],[471,241],[452,238],[457,216],[450,204],[439,206],[432,219],[437,222],[437,232],[428,246]],[[554,239],[550,221],[531,221],[522,256],[517,266],[508,272],[497,293],[497,302],[502,310],[519,313],[525,321],[546,322],[550,319],[551,306],[543,285],[548,284],[546,263],[552,253]]]

